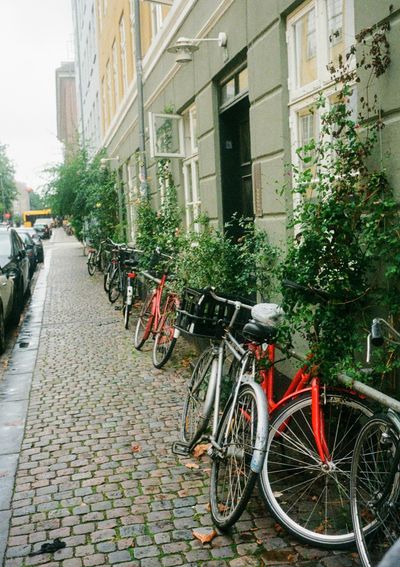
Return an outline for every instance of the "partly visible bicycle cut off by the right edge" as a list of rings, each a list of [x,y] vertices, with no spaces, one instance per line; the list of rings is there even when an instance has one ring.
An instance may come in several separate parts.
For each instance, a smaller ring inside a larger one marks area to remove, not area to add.
[[[400,333],[384,319],[374,319],[367,362],[371,344],[382,346],[384,341],[400,345]],[[386,408],[370,417],[360,430],[350,477],[358,553],[363,567],[375,567],[400,538],[400,402],[361,382],[354,381],[352,388]],[[394,554],[399,553],[396,549]],[[400,555],[393,564],[400,565]]]

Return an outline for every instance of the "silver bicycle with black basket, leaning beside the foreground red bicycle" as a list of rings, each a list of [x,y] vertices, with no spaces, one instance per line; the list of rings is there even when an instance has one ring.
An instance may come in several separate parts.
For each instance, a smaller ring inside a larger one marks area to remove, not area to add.
[[[265,394],[254,381],[254,356],[234,336],[251,308],[212,290],[186,289],[175,324],[182,332],[211,339],[188,383],[182,441],[174,443],[173,451],[187,456],[204,436],[209,439],[211,516],[221,530],[241,516],[265,457]]]

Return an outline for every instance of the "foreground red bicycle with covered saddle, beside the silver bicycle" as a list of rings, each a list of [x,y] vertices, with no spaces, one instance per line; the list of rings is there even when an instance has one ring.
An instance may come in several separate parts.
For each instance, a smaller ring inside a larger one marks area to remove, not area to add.
[[[320,290],[285,283],[321,295]],[[274,304],[264,304],[264,309],[266,305]],[[351,459],[357,435],[372,412],[354,392],[323,385],[312,361],[304,363],[294,353],[303,364],[277,397],[279,360],[276,345],[265,344],[271,329],[260,323],[265,321],[260,309],[262,305],[253,308],[253,321],[243,333],[251,340],[248,348],[254,353],[270,413],[261,493],[278,522],[302,541],[331,549],[351,546]]]

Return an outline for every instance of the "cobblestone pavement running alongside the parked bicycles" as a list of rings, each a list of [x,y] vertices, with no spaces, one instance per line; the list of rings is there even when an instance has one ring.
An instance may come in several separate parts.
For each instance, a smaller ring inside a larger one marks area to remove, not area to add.
[[[82,248],[55,231],[39,351],[11,503],[5,567],[356,565],[278,529],[257,495],[211,544],[209,462],[171,453],[187,370],[155,370],[87,274]],[[66,547],[30,556],[60,538]]]

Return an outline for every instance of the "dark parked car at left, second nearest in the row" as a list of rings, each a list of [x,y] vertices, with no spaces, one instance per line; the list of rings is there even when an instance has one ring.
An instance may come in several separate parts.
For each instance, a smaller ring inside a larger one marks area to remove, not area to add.
[[[14,282],[13,304],[10,322],[19,321],[24,306],[24,298],[29,293],[29,259],[21,237],[14,228],[0,229],[0,268],[1,272]]]

